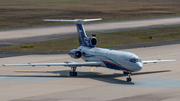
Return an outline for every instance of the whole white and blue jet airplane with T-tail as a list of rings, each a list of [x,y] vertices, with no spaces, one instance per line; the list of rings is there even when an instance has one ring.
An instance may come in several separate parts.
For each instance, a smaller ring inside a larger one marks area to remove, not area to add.
[[[106,67],[109,69],[123,71],[123,74],[128,75],[127,82],[132,81],[132,72],[140,71],[143,64],[156,63],[176,60],[145,60],[142,61],[136,54],[117,51],[112,49],[97,48],[98,43],[96,37],[87,37],[83,23],[88,21],[98,21],[97,19],[74,19],[74,20],[58,20],[58,19],[43,19],[42,21],[60,21],[60,22],[74,22],[77,27],[79,47],[72,49],[69,55],[75,59],[83,59],[85,62],[66,61],[64,63],[28,63],[28,64],[5,64],[3,66],[68,66],[72,71],[70,76],[77,76],[76,68],[82,66]]]

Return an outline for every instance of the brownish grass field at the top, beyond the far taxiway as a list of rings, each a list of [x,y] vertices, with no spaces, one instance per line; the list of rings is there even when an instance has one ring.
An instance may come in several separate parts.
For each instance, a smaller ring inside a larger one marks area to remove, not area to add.
[[[42,25],[41,19],[106,20],[180,15],[179,0],[0,0],[0,29]]]

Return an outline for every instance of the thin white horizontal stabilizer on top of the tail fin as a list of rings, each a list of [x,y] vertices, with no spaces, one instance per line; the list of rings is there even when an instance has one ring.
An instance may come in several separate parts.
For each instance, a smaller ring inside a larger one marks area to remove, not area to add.
[[[58,20],[58,19],[42,19],[42,21],[60,21],[60,22],[75,22],[75,23],[79,23],[82,24],[84,22],[87,21],[97,21],[97,20],[102,20],[102,18],[97,18],[97,19],[74,19],[74,20]]]

